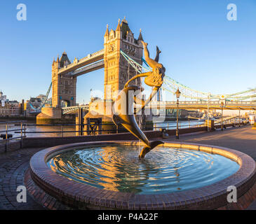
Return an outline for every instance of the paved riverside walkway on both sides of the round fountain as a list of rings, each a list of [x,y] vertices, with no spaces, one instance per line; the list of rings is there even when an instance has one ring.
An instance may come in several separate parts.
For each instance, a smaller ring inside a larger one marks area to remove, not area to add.
[[[249,125],[242,127],[233,127],[223,132],[216,130],[215,132],[201,132],[194,134],[182,134],[180,139],[171,136],[168,141],[182,141],[200,144],[209,144],[215,146],[223,146],[234,148],[250,155],[256,160],[256,130],[252,130]],[[29,167],[29,159],[34,153],[42,148],[22,148],[17,151],[10,151],[0,154],[0,209],[69,209],[55,202],[52,197],[41,193],[34,195],[40,197],[46,208],[34,201],[34,197],[27,194],[27,203],[18,203],[16,189],[20,185],[24,185],[25,172]],[[248,209],[256,210],[256,201],[253,202]]]

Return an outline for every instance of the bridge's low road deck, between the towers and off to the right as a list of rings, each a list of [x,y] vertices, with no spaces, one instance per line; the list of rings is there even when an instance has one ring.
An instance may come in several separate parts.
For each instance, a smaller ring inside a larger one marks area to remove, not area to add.
[[[140,107],[140,105],[135,106]],[[88,105],[79,105],[79,106],[69,106],[62,108],[62,114],[68,113],[76,113],[79,108],[83,108],[84,110],[88,110]],[[146,109],[176,109],[177,102],[151,102],[149,106],[146,106]],[[208,102],[199,102],[199,101],[185,101],[179,102],[180,109],[208,109]],[[209,102],[209,109],[217,109],[221,110],[222,106],[220,102],[212,101]],[[256,102],[226,102],[223,107],[224,110],[248,110],[248,111],[255,111],[256,110]]]

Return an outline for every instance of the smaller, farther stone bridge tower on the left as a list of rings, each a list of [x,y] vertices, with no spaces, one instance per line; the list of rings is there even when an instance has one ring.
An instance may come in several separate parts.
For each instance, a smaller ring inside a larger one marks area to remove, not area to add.
[[[67,53],[63,52],[52,64],[53,97],[52,106],[62,108],[64,106],[76,106],[76,77],[69,74],[59,75],[58,71],[70,64]]]

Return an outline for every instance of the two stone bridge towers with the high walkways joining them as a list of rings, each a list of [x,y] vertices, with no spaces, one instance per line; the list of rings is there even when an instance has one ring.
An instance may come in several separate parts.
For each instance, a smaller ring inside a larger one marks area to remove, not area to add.
[[[76,106],[77,77],[97,69],[105,69],[104,100],[114,100],[116,90],[123,89],[125,83],[137,74],[126,58],[121,56],[125,52],[129,58],[142,65],[143,45],[142,33],[135,38],[130,30],[126,18],[119,20],[116,29],[107,26],[104,35],[104,48],[93,52],[81,59],[75,58],[70,62],[67,53],[53,59],[52,64],[52,107],[42,107],[38,119],[61,118],[62,102],[66,106]],[[133,81],[140,85],[140,80]]]

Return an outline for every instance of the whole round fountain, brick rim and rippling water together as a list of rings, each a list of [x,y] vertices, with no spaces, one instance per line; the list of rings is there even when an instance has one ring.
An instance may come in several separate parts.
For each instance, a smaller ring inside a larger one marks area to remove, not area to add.
[[[167,142],[140,160],[135,141],[47,148],[30,160],[41,189],[76,209],[217,209],[255,183],[255,161],[228,148]]]

